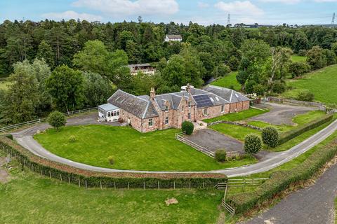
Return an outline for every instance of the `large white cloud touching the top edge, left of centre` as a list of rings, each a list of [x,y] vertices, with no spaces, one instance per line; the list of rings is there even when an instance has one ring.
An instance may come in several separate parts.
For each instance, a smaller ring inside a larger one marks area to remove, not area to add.
[[[118,15],[172,15],[179,10],[176,0],[77,0],[73,6]]]

